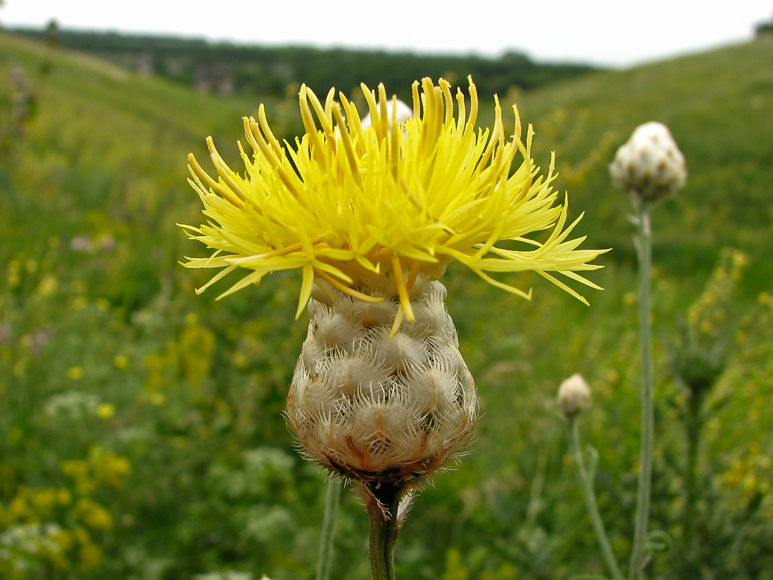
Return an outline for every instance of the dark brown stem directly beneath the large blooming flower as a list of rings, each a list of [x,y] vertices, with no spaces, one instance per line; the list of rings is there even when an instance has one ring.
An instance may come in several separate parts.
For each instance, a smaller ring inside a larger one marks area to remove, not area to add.
[[[370,517],[369,549],[372,578],[373,580],[395,580],[393,553],[394,542],[397,540],[397,507],[402,493],[398,486],[389,484],[382,484],[377,488],[370,487],[369,490],[373,493],[367,506]],[[386,514],[381,506],[386,508]]]

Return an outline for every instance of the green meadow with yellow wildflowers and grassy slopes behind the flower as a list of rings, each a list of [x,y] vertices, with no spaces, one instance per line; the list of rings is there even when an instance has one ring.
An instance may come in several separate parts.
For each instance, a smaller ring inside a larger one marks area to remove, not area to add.
[[[499,95],[533,124],[543,169],[556,152],[584,247],[612,248],[589,275],[605,289],[585,306],[537,276],[509,279],[533,287],[526,301],[449,269],[482,416],[469,454],[419,496],[398,577],[604,574],[555,401],[575,372],[593,391],[581,429],[599,508],[627,561],[635,228],[608,163],[655,120],[689,177],[652,212],[652,528],[669,549],[648,577],[773,578],[771,58],[761,38]],[[213,135],[236,166],[241,118],[261,100],[5,33],[0,79],[0,578],[313,578],[325,476],[282,417],[308,322],[294,320],[300,277],[216,301],[228,282],[197,296],[208,273],[178,263],[204,255],[175,225],[200,223],[188,153],[204,162]],[[301,131],[295,94],[263,101],[279,135]],[[367,578],[366,554],[363,507],[345,493],[332,578]]]

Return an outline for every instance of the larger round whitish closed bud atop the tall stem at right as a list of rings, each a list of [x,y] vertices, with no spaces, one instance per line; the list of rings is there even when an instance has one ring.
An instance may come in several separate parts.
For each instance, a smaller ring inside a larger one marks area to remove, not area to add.
[[[673,195],[687,179],[684,156],[666,125],[651,121],[639,125],[609,165],[612,183],[642,200]]]

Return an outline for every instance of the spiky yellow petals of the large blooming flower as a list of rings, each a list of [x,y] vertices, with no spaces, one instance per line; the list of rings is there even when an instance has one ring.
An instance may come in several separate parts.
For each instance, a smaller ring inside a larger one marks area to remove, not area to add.
[[[225,268],[204,288],[236,268],[252,270],[228,295],[277,270],[300,269],[303,282],[298,315],[317,281],[356,298],[378,302],[368,292],[373,281],[388,279],[399,296],[401,314],[412,321],[410,292],[418,277],[437,279],[456,259],[491,284],[525,297],[487,272],[533,270],[585,300],[548,272],[559,272],[598,288],[577,271],[600,251],[577,250],[584,238],[567,240],[575,221],[565,227],[567,206],[554,205],[553,164],[546,178],[530,156],[533,131],[520,140],[516,112],[514,134],[506,138],[502,111],[494,97],[494,128],[476,128],[478,96],[469,80],[465,94],[441,79],[413,85],[413,117],[392,123],[397,101],[363,85],[371,117],[363,127],[355,104],[330,90],[324,104],[302,86],[301,117],[306,129],[295,146],[271,132],[261,105],[257,121],[244,119],[247,172],[223,162],[212,138],[209,152],[217,169],[210,177],[190,155],[193,189],[204,204],[209,224],[183,226],[191,237],[215,252],[188,258],[189,268]],[[456,101],[456,106],[454,104]],[[456,109],[456,114],[454,114]],[[516,155],[523,157],[511,174]],[[579,220],[579,218],[578,218]],[[551,230],[547,240],[526,236]],[[496,247],[516,241],[520,249]],[[374,295],[375,294],[375,295]],[[587,303],[587,302],[586,302]]]

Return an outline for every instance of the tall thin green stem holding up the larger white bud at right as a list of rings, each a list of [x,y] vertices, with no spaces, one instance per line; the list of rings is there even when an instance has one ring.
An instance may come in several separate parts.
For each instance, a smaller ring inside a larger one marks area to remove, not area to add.
[[[652,269],[652,230],[649,203],[638,205],[638,325],[642,348],[642,447],[639,456],[638,493],[634,521],[633,550],[629,577],[638,580],[645,565],[645,543],[652,494],[652,442],[655,432],[655,403],[652,387],[652,322],[649,288]]]

